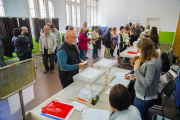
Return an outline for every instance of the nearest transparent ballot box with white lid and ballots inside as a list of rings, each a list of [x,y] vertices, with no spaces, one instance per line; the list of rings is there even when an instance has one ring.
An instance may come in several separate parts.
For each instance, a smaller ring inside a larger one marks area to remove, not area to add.
[[[92,101],[105,87],[105,71],[88,67],[73,76],[75,97]],[[104,78],[104,79],[103,79]]]

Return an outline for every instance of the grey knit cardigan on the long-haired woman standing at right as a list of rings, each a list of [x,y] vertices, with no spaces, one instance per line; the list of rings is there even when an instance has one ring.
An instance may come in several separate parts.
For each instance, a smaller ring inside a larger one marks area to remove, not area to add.
[[[135,82],[136,93],[142,97],[158,95],[161,66],[161,58],[153,58],[143,63],[138,70],[134,71],[137,76]]]

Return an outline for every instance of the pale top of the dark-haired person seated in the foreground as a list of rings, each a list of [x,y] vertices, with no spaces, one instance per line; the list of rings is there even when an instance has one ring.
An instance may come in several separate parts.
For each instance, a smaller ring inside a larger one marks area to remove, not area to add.
[[[109,120],[141,120],[141,115],[139,110],[131,105],[127,110],[116,111]]]

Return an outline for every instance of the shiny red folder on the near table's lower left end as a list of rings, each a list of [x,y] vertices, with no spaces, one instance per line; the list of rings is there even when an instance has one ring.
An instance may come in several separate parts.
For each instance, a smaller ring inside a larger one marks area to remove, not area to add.
[[[72,108],[72,105],[60,103],[57,100],[53,100],[48,105],[42,108],[42,113],[65,119]]]

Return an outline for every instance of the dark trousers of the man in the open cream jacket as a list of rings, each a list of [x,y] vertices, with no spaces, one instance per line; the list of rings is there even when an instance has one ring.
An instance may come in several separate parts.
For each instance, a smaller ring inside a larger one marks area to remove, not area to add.
[[[48,65],[48,58],[50,61],[50,67]],[[54,54],[48,54],[48,50],[46,50],[46,49],[44,49],[43,63],[44,63],[44,67],[47,71],[54,70]]]

